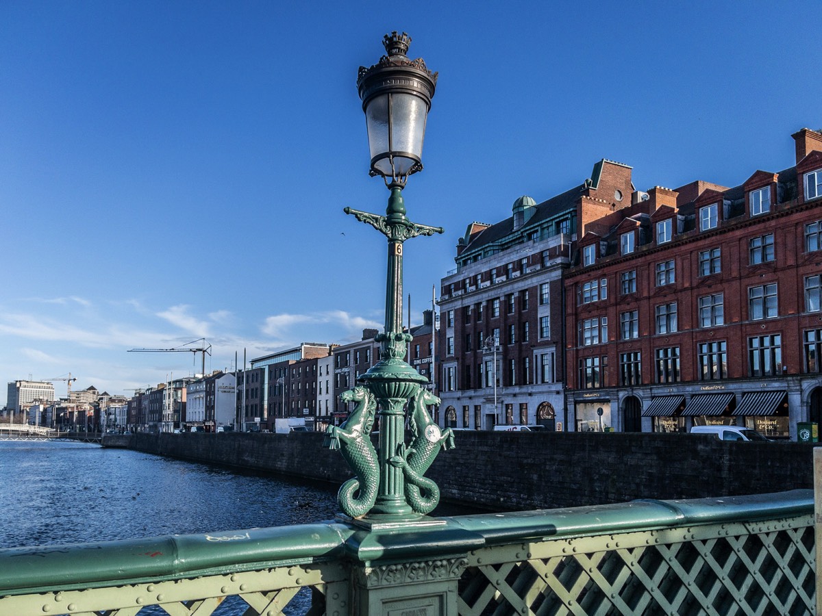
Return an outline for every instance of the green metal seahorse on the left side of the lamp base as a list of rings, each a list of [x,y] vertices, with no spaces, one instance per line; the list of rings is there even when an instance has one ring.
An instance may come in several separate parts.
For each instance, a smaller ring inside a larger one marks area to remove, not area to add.
[[[357,402],[357,406],[343,425],[328,426],[325,445],[330,449],[339,449],[356,475],[340,486],[337,502],[347,515],[360,517],[368,513],[376,503],[377,486],[380,483],[376,449],[369,438],[374,426],[376,399],[366,388],[355,387],[344,392],[342,400]]]

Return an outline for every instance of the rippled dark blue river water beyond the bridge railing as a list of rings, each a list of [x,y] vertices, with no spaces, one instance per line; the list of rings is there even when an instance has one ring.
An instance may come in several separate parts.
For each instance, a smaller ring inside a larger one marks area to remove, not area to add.
[[[93,444],[0,440],[0,548],[321,522],[339,512],[338,488]],[[459,513],[471,512],[443,504],[434,514]]]

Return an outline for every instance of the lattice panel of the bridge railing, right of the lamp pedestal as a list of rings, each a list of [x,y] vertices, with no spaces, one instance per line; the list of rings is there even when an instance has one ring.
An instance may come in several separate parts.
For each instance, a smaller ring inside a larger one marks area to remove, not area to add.
[[[460,616],[813,614],[813,518],[478,549],[458,608]]]

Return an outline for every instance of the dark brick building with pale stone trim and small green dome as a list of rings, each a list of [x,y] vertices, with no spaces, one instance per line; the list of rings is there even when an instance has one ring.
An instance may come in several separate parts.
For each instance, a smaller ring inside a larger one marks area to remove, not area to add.
[[[469,224],[457,269],[442,279],[441,423],[491,430],[563,430],[563,284],[582,221],[630,205],[630,167],[609,160],[579,186],[540,204],[516,200],[510,218]]]

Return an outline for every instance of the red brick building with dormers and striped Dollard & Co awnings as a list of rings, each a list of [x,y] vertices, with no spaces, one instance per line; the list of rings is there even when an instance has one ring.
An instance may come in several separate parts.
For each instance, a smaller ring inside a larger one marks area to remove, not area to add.
[[[793,138],[783,171],[656,187],[580,216],[565,276],[569,430],[723,422],[787,438],[822,419],[822,134]]]

